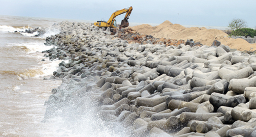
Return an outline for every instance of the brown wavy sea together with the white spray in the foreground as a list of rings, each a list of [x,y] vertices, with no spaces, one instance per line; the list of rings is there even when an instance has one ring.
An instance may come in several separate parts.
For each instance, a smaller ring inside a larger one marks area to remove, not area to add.
[[[51,25],[61,21],[0,15],[0,137],[128,136],[118,123],[102,121],[98,108],[87,101],[83,114],[75,113],[79,108],[68,108],[65,117],[43,121],[45,101],[62,84],[49,80],[62,60],[50,61],[42,51],[53,48],[44,45],[45,38],[60,32]],[[34,37],[37,32],[22,32],[36,27],[48,29],[39,37]]]

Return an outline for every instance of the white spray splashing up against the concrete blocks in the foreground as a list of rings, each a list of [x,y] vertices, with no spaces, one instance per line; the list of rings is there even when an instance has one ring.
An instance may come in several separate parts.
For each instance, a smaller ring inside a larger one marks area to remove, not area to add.
[[[46,117],[51,113],[48,111],[51,107],[58,108],[54,114],[51,113],[55,116],[49,119],[45,117],[46,121],[56,122],[59,119],[56,132],[61,131],[68,137],[129,137],[129,129],[123,127],[121,123],[105,121],[98,113],[100,108],[97,101],[93,99],[93,94],[97,93],[98,89],[87,90],[94,85],[93,77],[90,76],[80,82],[71,80],[62,83],[54,95],[62,102],[56,102],[54,105],[46,103],[48,104]]]

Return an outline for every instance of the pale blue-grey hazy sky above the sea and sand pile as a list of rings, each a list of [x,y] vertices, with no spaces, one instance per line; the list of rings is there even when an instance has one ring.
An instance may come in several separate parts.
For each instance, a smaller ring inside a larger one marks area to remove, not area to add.
[[[228,26],[234,18],[256,27],[256,0],[0,0],[0,15],[107,21],[133,7],[130,23]],[[118,22],[125,15],[116,19]]]

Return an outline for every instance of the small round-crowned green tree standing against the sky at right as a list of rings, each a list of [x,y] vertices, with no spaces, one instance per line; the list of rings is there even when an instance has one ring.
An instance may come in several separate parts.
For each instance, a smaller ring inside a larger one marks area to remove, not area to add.
[[[240,28],[247,27],[247,22],[243,19],[233,19],[229,22],[228,27],[232,30],[232,35],[237,36]]]

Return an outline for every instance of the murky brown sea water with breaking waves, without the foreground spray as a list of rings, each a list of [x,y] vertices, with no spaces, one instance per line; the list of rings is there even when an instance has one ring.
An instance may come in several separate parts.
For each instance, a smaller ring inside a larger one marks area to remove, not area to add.
[[[14,33],[32,27],[46,27],[54,20],[0,16],[0,137],[44,137],[44,102],[60,80],[43,80],[52,75],[60,60],[49,61],[41,53],[47,35]],[[45,59],[45,61],[42,61]]]

